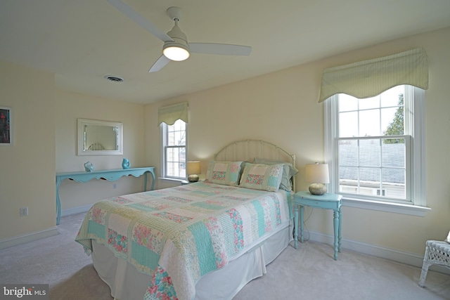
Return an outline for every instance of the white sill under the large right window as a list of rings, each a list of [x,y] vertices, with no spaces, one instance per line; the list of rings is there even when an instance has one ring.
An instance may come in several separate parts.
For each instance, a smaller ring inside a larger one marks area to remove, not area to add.
[[[410,216],[425,216],[425,213],[427,211],[431,211],[430,207],[419,207],[416,205],[378,202],[371,200],[359,200],[346,197],[342,198],[342,205],[345,207],[356,207],[359,209],[392,212],[394,214],[408,214]]]

